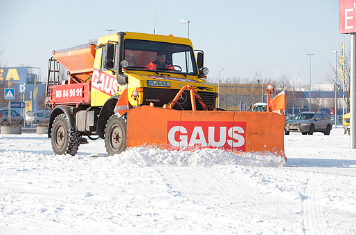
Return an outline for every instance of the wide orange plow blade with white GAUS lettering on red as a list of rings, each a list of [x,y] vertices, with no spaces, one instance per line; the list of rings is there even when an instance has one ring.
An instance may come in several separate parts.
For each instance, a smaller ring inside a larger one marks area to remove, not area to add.
[[[285,117],[272,112],[177,111],[139,106],[127,113],[127,147],[224,149],[284,154]]]

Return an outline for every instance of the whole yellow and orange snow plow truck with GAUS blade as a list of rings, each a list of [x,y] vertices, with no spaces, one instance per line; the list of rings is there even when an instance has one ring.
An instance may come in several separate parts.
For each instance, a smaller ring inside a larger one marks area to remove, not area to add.
[[[172,35],[118,32],[53,50],[45,100],[53,152],[74,156],[87,138],[103,138],[109,156],[140,146],[284,156],[284,117],[217,109],[207,73],[204,52]]]

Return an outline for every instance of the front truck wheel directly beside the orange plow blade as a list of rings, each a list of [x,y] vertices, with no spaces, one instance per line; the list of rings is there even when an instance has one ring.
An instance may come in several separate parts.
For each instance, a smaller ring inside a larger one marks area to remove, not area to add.
[[[123,118],[112,115],[105,128],[105,148],[109,156],[126,149],[126,123]]]

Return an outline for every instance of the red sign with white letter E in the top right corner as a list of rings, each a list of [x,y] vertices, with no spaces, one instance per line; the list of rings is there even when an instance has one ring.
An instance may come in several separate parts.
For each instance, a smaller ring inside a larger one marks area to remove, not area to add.
[[[339,33],[356,32],[356,0],[339,1]]]

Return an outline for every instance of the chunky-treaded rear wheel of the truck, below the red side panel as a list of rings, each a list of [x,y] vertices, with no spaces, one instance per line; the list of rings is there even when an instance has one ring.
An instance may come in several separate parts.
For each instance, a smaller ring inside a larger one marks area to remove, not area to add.
[[[64,114],[55,117],[51,133],[52,149],[55,154],[75,156],[79,149],[80,135],[78,131],[75,131],[75,128],[69,128],[68,120]]]

